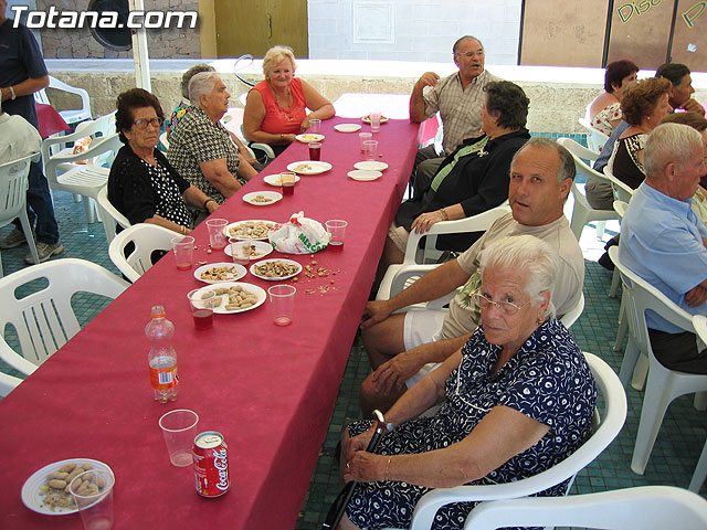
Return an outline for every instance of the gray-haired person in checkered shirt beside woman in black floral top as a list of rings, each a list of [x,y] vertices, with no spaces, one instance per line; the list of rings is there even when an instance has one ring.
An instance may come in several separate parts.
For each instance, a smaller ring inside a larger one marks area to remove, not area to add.
[[[189,182],[219,204],[257,171],[239,158],[239,149],[219,121],[229,109],[229,91],[215,72],[196,74],[189,82],[192,109],[175,128],[167,158]]]

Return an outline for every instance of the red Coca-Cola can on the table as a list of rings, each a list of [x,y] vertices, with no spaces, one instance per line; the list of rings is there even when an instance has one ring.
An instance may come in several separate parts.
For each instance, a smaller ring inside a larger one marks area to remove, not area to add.
[[[221,433],[207,431],[194,438],[194,479],[202,497],[220,497],[231,487],[229,446]]]

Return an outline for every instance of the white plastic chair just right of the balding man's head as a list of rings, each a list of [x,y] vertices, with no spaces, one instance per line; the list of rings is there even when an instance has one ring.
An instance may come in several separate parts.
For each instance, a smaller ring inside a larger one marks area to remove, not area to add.
[[[603,174],[594,171],[590,168],[584,160],[597,160],[598,155],[593,151],[590,151],[585,147],[580,146],[578,142],[570,138],[558,138],[557,142],[563,146],[574,159],[574,169],[577,174],[583,174],[584,177],[591,177],[592,179],[611,183],[609,179],[606,179]],[[574,199],[574,206],[572,209],[572,219],[570,221],[570,227],[577,241],[580,240],[582,235],[582,230],[584,225],[590,221],[609,221],[612,219],[618,219],[616,212],[613,210],[595,210],[587,200],[587,194],[584,192],[584,186],[577,182],[577,179],[572,182],[572,197]],[[597,239],[603,236],[604,224],[599,223],[597,225]]]

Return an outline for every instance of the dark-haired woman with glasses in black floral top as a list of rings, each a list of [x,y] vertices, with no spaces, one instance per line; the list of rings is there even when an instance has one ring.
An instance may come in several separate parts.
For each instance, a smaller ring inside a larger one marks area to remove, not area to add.
[[[117,99],[116,128],[125,146],[108,177],[108,200],[131,224],[152,223],[181,234],[193,227],[187,205],[213,212],[219,204],[182,179],[156,149],[165,114],[157,97],[141,88]]]

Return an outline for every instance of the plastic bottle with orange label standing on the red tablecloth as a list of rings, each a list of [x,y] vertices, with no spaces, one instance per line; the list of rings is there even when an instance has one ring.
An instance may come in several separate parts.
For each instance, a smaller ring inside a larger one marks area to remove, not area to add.
[[[172,348],[175,325],[167,320],[162,306],[152,307],[152,319],[145,327],[145,336],[150,341],[148,362],[155,400],[160,403],[175,401],[179,391],[177,352]]]

